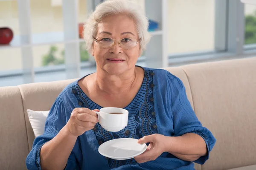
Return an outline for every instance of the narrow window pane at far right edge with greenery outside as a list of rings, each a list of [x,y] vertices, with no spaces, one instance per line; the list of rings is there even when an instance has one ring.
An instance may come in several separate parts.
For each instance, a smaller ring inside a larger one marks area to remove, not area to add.
[[[245,28],[244,44],[256,43],[256,6],[244,5]]]

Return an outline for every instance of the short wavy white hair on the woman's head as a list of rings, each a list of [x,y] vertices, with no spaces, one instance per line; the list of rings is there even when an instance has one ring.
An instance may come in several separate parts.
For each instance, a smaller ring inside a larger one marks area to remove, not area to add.
[[[84,40],[87,51],[91,54],[93,48],[93,37],[96,37],[98,23],[110,15],[127,14],[134,20],[139,35],[141,51],[146,49],[151,35],[148,33],[148,19],[143,10],[133,0],[107,0],[96,6],[95,11],[84,23]]]

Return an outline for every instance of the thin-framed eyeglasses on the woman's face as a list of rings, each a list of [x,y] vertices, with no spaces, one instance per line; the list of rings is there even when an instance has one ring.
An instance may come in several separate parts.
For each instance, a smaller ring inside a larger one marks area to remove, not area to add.
[[[111,48],[116,41],[113,38],[109,38],[109,37],[98,37],[98,38],[93,37],[93,40],[96,41],[101,48]],[[140,43],[140,41],[137,41],[134,38],[123,38],[117,42],[119,46],[127,50],[135,47],[138,43]]]

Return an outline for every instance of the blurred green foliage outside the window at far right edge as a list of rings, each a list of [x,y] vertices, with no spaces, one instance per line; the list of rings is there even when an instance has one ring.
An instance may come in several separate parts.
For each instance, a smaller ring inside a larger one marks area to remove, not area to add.
[[[256,11],[245,16],[244,44],[256,43]]]

